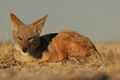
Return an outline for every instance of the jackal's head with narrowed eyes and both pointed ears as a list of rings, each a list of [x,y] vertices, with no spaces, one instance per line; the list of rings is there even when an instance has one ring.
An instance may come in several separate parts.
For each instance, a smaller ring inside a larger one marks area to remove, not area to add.
[[[13,40],[15,48],[22,53],[32,53],[39,46],[39,35],[48,15],[32,24],[24,24],[13,13],[10,19],[13,25]]]

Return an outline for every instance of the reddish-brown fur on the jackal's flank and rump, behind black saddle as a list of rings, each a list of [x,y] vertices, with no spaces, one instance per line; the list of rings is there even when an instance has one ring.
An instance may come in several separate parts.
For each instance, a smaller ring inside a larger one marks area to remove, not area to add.
[[[87,57],[96,51],[95,46],[87,37],[77,32],[63,31],[52,39],[48,54],[50,54],[49,60],[58,61],[68,57]]]

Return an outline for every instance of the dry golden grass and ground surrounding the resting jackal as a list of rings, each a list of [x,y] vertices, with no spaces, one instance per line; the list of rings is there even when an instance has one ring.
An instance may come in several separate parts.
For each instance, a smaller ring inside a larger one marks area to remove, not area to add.
[[[11,43],[0,43],[1,80],[119,80],[120,43],[97,43],[100,55],[64,60],[62,65],[21,67],[13,58]]]

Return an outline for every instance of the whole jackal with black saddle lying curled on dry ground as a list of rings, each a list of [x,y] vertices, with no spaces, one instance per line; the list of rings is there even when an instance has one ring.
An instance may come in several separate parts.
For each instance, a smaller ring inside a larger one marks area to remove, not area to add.
[[[94,44],[74,31],[61,31],[40,36],[48,15],[32,24],[24,24],[13,13],[14,57],[19,62],[54,62],[69,57],[87,57],[97,52]]]

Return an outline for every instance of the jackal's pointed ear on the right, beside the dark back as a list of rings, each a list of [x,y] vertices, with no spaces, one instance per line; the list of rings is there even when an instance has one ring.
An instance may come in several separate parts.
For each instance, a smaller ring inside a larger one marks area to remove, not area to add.
[[[44,17],[40,18],[39,20],[35,21],[32,25],[33,29],[35,30],[36,33],[40,34],[41,30],[44,26],[44,23],[46,19],[48,18],[48,15],[45,15]]]

